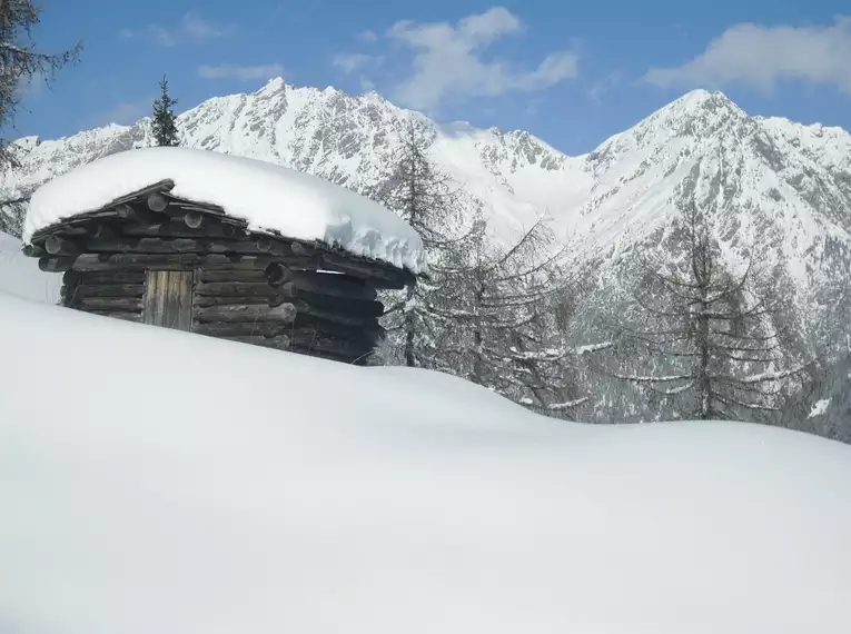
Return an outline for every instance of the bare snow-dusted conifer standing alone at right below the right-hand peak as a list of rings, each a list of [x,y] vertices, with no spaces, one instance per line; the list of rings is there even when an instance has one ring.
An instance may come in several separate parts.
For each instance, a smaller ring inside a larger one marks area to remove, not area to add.
[[[773,307],[752,265],[739,276],[725,269],[695,204],[683,210],[682,231],[681,261],[640,254],[637,275],[626,283],[635,289],[632,318],[639,324],[622,327],[622,351],[650,369],[613,375],[644,387],[656,406],[667,403],[681,417],[753,419],[776,412],[784,382],[805,364],[784,358]]]

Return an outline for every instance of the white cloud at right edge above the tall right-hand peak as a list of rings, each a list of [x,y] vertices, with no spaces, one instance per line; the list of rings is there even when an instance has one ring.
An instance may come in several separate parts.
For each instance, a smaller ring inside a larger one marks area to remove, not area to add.
[[[721,88],[738,82],[764,91],[784,79],[833,86],[851,95],[851,17],[828,26],[734,24],[687,63],[652,68],[644,76],[660,87]]]

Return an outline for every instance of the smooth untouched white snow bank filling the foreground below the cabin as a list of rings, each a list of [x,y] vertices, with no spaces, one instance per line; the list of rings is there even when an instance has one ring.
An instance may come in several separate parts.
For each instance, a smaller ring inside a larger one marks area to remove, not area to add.
[[[851,632],[851,447],[2,296],[0,331],[0,632]]]

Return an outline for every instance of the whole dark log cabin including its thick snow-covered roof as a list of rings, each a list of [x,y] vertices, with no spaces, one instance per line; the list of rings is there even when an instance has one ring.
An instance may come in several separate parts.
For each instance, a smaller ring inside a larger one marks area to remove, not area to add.
[[[43,185],[24,254],[63,306],[367,365],[382,289],[416,284],[416,232],[357,194],[260,161],[133,149]]]

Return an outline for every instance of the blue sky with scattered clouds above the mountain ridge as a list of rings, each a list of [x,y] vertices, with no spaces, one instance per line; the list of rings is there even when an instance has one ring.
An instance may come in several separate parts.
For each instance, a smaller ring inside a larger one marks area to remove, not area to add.
[[[40,0],[42,49],[80,63],[29,87],[6,136],[42,138],[258,89],[375,89],[438,121],[593,149],[692,88],[746,111],[851,129],[848,0]],[[844,13],[848,16],[843,17]]]

